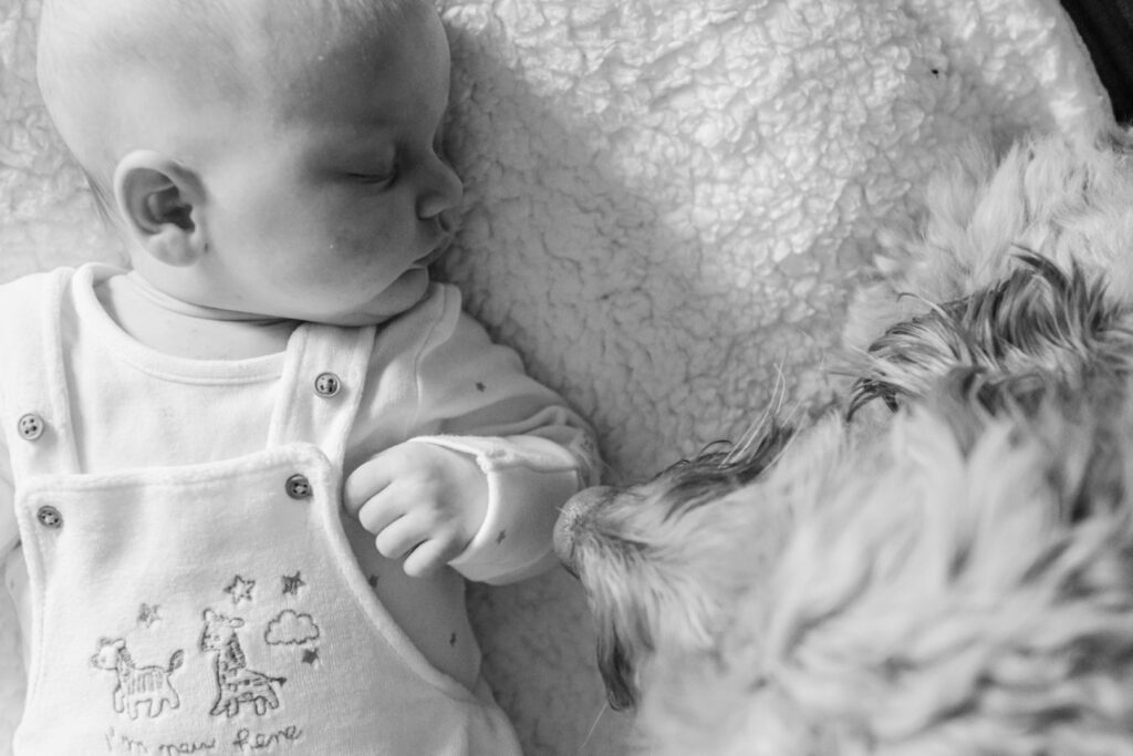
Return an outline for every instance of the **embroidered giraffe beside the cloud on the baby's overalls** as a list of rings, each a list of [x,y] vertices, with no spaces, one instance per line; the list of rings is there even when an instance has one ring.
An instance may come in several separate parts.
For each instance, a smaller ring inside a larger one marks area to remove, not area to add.
[[[261,716],[269,708],[279,708],[275,687],[283,685],[287,678],[273,678],[248,669],[240,639],[236,636],[237,628],[244,627],[244,620],[224,617],[211,609],[205,610],[204,619],[201,651],[216,652],[216,702],[208,713],[213,716],[236,716],[240,705],[248,703]]]

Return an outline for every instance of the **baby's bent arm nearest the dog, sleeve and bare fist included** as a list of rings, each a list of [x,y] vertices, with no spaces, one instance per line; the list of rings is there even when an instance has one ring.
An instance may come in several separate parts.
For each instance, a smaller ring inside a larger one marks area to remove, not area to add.
[[[377,535],[383,554],[412,552],[409,574],[428,560],[425,571],[446,562],[469,579],[518,580],[554,563],[559,508],[596,482],[595,447],[562,398],[460,313],[454,290],[444,291],[443,313],[412,359],[384,368],[383,380],[400,385],[410,379],[399,377],[398,364],[412,364],[414,417],[402,436],[410,440],[360,460],[348,476],[347,508]],[[403,495],[393,495],[395,487]],[[452,519],[426,537],[426,520],[440,521],[442,511]],[[400,533],[386,535],[394,523]]]

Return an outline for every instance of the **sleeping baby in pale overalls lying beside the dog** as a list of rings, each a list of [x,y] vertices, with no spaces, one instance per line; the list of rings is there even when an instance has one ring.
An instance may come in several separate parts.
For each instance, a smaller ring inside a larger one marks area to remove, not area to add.
[[[46,0],[40,85],[130,264],[0,288],[16,753],[518,753],[463,578],[596,460],[429,282],[435,9]]]

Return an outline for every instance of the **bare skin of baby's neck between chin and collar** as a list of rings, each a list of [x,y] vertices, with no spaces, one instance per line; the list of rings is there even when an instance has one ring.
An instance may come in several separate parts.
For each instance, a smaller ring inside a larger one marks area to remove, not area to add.
[[[296,321],[193,305],[157,291],[138,273],[95,289],[119,328],[157,351],[191,359],[248,359],[282,351]]]

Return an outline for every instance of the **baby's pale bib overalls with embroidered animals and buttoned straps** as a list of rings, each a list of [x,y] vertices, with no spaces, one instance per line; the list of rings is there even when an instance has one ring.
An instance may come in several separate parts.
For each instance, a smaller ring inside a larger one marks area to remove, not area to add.
[[[34,606],[15,753],[518,754],[491,694],[425,660],[343,535],[340,470],[373,329],[305,326],[317,354],[298,363],[318,375],[289,363],[263,451],[83,474],[65,283],[33,317],[0,312],[19,366],[0,389]]]

